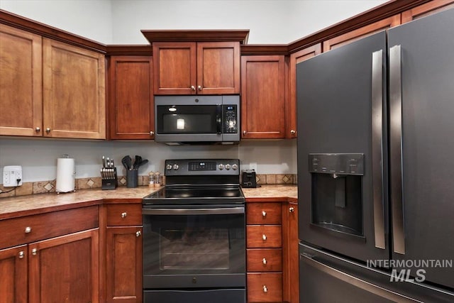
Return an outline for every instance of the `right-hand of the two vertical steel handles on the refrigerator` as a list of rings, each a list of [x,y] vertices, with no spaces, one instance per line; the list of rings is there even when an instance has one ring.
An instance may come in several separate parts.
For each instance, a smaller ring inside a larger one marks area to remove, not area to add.
[[[391,172],[392,242],[405,254],[402,185],[402,61],[401,45],[389,48],[389,160]]]

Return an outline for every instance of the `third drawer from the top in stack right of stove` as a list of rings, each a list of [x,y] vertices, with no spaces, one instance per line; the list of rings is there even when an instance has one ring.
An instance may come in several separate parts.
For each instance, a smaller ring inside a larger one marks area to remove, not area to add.
[[[246,252],[248,272],[282,271],[282,249],[253,248]]]

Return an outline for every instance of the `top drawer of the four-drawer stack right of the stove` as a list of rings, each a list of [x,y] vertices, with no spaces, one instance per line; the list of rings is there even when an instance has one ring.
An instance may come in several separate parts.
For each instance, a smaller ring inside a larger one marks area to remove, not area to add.
[[[281,224],[281,204],[246,203],[246,224]]]

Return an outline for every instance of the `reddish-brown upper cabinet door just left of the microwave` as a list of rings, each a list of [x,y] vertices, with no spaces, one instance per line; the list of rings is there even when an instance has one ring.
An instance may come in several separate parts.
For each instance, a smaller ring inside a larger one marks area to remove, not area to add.
[[[151,56],[113,56],[109,65],[111,139],[151,139],[154,135]]]

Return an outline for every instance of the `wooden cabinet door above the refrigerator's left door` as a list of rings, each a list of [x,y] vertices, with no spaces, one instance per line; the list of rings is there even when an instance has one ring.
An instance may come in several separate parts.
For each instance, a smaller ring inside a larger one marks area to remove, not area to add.
[[[352,43],[355,40],[365,38],[368,35],[378,33],[379,31],[386,30],[387,28],[398,26],[400,23],[400,14],[398,14],[389,18],[384,18],[368,26],[358,28],[354,31],[344,33],[343,35],[338,35],[334,38],[323,41],[323,52],[333,50],[334,48],[338,48],[348,43]]]

